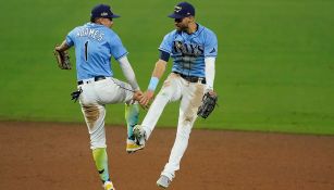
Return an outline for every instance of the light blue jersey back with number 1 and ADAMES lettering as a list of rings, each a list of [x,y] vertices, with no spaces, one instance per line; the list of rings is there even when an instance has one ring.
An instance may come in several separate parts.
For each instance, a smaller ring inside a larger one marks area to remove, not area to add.
[[[67,46],[75,47],[77,80],[95,76],[113,76],[111,58],[127,54],[120,37],[100,24],[87,23],[66,36]]]

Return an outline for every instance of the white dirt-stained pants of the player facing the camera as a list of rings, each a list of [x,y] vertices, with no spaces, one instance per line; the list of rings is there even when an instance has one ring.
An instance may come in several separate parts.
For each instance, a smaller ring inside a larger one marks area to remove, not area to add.
[[[181,100],[176,139],[169,162],[161,173],[170,179],[173,179],[175,172],[180,169],[180,162],[187,149],[203,92],[205,85],[189,83],[180,75],[171,73],[143,121],[146,137],[149,138],[166,103]]]

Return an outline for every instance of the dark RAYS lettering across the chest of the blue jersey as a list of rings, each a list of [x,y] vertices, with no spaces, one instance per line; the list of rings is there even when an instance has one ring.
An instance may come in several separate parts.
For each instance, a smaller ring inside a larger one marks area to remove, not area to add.
[[[182,41],[174,41],[174,53],[182,53],[188,56],[199,56],[205,53],[205,49],[200,45],[184,43]]]

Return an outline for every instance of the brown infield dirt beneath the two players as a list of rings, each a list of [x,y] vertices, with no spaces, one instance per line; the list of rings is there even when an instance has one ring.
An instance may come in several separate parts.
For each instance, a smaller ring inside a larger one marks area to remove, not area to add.
[[[107,127],[116,190],[154,190],[176,129],[156,129],[125,152],[126,128]],[[0,123],[0,190],[102,189],[84,124]],[[332,190],[334,137],[194,129],[169,189]]]

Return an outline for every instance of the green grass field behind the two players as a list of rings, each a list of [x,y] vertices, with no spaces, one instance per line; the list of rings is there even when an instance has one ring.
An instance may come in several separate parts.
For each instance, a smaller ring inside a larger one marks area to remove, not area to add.
[[[86,23],[98,2],[111,3],[113,29],[147,88],[166,15],[177,1],[23,0],[2,3],[0,119],[83,122],[75,71],[60,71],[55,43]],[[197,21],[219,38],[215,90],[219,107],[196,128],[334,135],[334,1],[193,0]],[[74,51],[71,51],[74,62]],[[116,62],[117,78],[124,79]],[[169,65],[169,69],[171,64]],[[165,75],[166,76],[166,75]],[[123,105],[108,105],[108,124],[123,124]],[[175,126],[178,103],[159,126]],[[122,115],[122,117],[120,116]],[[141,112],[141,119],[145,112]]]

